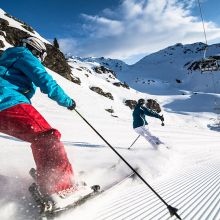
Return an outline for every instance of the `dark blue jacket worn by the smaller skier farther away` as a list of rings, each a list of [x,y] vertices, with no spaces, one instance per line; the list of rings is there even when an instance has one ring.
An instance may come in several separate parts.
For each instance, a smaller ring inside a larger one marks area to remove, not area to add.
[[[138,128],[143,125],[147,125],[147,121],[145,118],[145,115],[154,117],[154,118],[160,118],[161,116],[157,114],[156,112],[153,112],[152,110],[137,104],[133,111],[133,128]]]

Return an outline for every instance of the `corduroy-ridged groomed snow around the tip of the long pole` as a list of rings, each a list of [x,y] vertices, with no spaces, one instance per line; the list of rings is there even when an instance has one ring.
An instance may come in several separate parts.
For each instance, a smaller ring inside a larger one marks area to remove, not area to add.
[[[169,205],[179,209],[178,214],[182,219],[218,220],[219,168],[220,163],[217,160],[203,163],[187,171],[182,170],[174,178],[156,182],[153,186]],[[166,206],[143,184],[118,192],[97,213],[93,219],[170,219]]]

